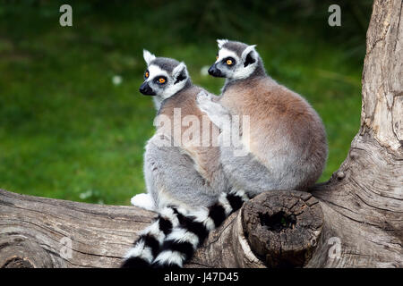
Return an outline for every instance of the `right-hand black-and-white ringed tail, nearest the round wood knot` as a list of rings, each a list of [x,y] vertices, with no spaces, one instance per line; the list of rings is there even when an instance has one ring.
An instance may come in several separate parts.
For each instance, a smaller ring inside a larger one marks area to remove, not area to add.
[[[221,194],[219,201],[208,208],[189,212],[188,215],[176,212],[179,224],[167,235],[153,266],[183,267],[210,231],[219,227],[229,214],[236,212],[248,200],[243,190],[234,190]]]

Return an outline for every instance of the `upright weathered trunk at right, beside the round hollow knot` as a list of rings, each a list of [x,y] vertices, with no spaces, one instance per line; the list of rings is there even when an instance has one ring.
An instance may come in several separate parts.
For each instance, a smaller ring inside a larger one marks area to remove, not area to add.
[[[324,214],[307,266],[403,266],[403,16],[401,0],[375,0],[367,31],[361,128],[346,160],[313,189]],[[341,242],[339,258],[327,241]]]

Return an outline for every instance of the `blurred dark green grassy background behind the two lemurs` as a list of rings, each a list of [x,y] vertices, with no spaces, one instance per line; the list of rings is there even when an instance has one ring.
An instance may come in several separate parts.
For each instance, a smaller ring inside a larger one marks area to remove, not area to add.
[[[73,27],[59,25],[71,4]],[[328,25],[330,4],[341,27]],[[365,32],[372,1],[0,0],[0,188],[104,204],[145,190],[142,154],[153,134],[138,92],[142,48],[184,61],[193,82],[216,38],[257,44],[268,73],[322,116],[330,154],[321,181],[359,128]]]

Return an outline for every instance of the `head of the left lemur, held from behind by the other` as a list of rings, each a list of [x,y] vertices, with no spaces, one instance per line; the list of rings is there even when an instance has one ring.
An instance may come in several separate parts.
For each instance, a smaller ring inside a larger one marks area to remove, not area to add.
[[[164,100],[190,84],[189,73],[184,63],[166,57],[156,57],[146,50],[143,50],[143,57],[147,63],[144,82],[140,87],[143,95]]]

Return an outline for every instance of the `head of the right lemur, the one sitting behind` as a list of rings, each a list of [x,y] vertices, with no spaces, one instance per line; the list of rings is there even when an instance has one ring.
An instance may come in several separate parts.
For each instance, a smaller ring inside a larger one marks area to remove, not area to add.
[[[227,39],[218,39],[217,43],[219,44],[217,61],[209,69],[213,77],[242,80],[251,75],[265,74],[262,59],[254,48],[256,45],[248,46]]]

